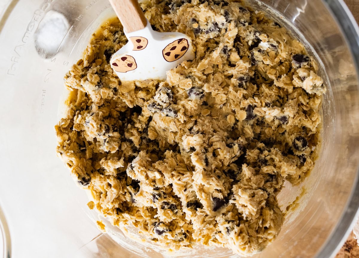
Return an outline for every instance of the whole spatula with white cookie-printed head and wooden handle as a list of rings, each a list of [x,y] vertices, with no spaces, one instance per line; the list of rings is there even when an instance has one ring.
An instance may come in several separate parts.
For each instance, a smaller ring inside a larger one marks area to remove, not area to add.
[[[137,0],[110,0],[129,42],[111,57],[112,69],[123,81],[166,79],[166,72],[193,60],[191,39],[179,32],[157,32]]]

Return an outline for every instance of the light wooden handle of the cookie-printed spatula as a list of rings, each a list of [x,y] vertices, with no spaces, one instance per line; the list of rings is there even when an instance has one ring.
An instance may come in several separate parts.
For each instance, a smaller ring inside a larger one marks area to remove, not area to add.
[[[137,0],[109,0],[109,2],[125,32],[130,33],[146,27],[147,20]]]

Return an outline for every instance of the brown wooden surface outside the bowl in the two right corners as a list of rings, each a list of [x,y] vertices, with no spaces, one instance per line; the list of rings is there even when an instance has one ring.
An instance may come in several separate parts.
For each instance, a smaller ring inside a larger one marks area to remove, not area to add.
[[[348,5],[351,13],[353,14],[356,22],[359,23],[359,0],[344,0]],[[349,238],[340,249],[339,253],[335,258],[358,258],[359,257],[359,246],[354,238],[353,232],[350,233]]]

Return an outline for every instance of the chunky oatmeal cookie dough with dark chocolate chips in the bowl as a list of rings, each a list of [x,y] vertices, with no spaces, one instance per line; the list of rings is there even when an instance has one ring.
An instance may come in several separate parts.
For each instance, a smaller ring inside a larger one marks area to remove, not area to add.
[[[160,32],[192,38],[196,58],[167,80],[121,83],[109,64],[117,19],[65,76],[57,152],[114,225],[179,249],[251,255],[279,234],[277,194],[312,169],[323,81],[303,45],[237,1],[146,1]]]

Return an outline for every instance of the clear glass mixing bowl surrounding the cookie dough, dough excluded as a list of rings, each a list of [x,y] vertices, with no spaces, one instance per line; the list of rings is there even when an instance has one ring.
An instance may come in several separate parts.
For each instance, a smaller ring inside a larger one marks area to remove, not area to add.
[[[296,208],[276,241],[255,257],[328,258],[348,235],[359,205],[358,27],[341,0],[248,2],[286,23],[308,46],[328,86],[317,163],[302,185],[281,192],[281,207],[297,199]],[[166,256],[111,227],[109,235],[121,244],[102,234],[86,193],[55,153],[63,76],[95,28],[113,16],[109,3],[13,0],[1,14],[0,256]],[[219,248],[196,249],[191,256],[232,257]]]

